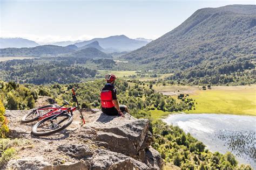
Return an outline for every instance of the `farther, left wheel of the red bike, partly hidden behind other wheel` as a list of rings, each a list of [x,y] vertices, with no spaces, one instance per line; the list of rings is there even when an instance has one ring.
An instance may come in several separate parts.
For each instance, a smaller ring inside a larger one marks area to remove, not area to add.
[[[37,109],[46,109],[46,108],[57,108],[55,104],[51,104],[51,105],[45,105],[43,107],[37,108]],[[34,109],[32,111],[30,111],[28,114],[24,115],[22,117],[21,122],[22,123],[29,123],[29,122],[34,122],[37,121],[40,117],[40,115],[46,114],[46,112],[49,112],[49,110],[38,110]]]

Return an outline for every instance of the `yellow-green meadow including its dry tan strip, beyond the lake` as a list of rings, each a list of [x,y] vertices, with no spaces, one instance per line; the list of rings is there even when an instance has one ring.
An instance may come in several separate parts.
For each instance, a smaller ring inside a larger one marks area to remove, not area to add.
[[[235,114],[256,116],[256,84],[251,86],[213,86],[203,90],[199,86],[154,86],[155,90],[176,97],[188,94],[196,100],[196,110],[188,114]],[[178,91],[179,90],[179,91]],[[165,112],[153,111],[153,117],[165,116]]]

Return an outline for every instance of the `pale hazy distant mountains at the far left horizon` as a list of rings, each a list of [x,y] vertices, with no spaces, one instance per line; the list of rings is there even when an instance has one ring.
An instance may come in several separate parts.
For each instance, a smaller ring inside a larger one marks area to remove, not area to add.
[[[0,38],[0,48],[22,48],[39,46],[35,41],[24,38]]]

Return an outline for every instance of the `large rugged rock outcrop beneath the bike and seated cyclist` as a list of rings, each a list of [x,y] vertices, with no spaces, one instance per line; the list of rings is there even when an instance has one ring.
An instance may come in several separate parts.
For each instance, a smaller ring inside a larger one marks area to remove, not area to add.
[[[163,162],[150,143],[149,120],[107,116],[84,110],[81,126],[78,112],[65,130],[48,137],[30,134],[33,123],[21,124],[25,111],[6,111],[10,136],[28,139],[33,147],[18,151],[5,169],[161,169]]]

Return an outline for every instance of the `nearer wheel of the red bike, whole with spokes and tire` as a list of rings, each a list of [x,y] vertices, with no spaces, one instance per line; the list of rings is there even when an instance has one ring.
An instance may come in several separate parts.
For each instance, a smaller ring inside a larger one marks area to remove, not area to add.
[[[50,134],[62,131],[67,128],[73,121],[70,114],[62,114],[52,119],[56,115],[52,115],[37,122],[32,128],[32,134],[35,136],[48,136]]]

